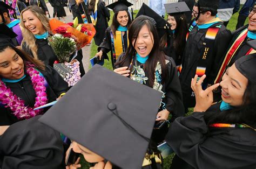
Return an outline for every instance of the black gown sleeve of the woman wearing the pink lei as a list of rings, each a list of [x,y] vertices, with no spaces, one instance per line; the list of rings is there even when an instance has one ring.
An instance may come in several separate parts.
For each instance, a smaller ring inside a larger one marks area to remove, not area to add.
[[[51,66],[46,66],[44,78],[57,96],[68,91],[68,83]]]

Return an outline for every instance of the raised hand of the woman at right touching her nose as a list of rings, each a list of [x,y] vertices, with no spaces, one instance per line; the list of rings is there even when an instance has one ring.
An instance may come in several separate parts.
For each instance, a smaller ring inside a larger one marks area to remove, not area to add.
[[[191,88],[194,91],[194,95],[196,97],[196,106],[194,107],[194,112],[203,112],[211,107],[213,103],[213,93],[212,90],[217,88],[220,84],[216,83],[207,89],[203,90],[201,84],[203,83],[206,75],[201,76],[201,78],[197,82],[198,75],[195,75],[191,80]]]

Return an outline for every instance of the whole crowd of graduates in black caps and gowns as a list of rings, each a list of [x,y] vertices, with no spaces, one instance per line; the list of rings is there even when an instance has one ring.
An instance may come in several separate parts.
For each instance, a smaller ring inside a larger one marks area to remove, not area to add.
[[[0,168],[79,168],[79,154],[91,168],[164,168],[165,151],[170,168],[256,167],[255,1],[231,32],[219,0],[164,4],[167,19],[153,1],[133,18],[126,0],[51,0],[53,17],[69,5],[93,24],[95,58],[112,63],[85,73],[78,48],[72,87],[54,68],[45,2],[32,2],[17,19],[0,1]]]

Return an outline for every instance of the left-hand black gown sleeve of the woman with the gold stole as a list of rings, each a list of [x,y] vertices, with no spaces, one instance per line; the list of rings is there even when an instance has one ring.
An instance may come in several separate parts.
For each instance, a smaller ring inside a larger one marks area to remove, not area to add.
[[[103,42],[98,47],[98,52],[103,52],[104,59],[109,60],[109,57],[107,56],[107,53],[111,50],[111,37],[110,37],[110,27],[108,27],[105,31],[105,38],[103,39]]]

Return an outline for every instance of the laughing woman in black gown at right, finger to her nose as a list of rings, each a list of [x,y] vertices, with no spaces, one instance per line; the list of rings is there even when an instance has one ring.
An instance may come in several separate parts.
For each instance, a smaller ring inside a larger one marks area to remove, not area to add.
[[[220,84],[206,90],[201,88],[205,75],[192,80],[194,112],[177,118],[166,136],[176,153],[171,168],[256,167],[255,64],[255,54],[240,58]],[[223,101],[211,105],[212,90],[219,85]]]

